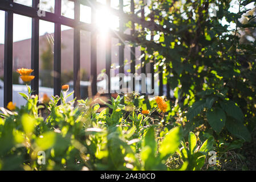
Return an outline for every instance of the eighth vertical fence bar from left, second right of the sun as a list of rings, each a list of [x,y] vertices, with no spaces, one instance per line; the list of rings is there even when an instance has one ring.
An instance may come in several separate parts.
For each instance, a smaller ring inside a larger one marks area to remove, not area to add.
[[[135,13],[135,6],[134,6],[134,0],[131,0],[131,14],[132,16]],[[131,35],[133,36],[135,34],[135,22],[132,20],[132,30],[131,30]],[[135,64],[136,64],[136,59],[135,59],[135,47],[131,47],[131,73],[134,75],[135,74]],[[132,91],[135,91],[135,77],[133,76],[132,78]]]

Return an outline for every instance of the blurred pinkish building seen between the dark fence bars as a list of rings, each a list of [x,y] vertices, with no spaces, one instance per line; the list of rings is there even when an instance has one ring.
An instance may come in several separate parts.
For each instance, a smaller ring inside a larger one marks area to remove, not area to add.
[[[97,73],[99,74],[105,68],[105,41],[104,36],[99,35],[97,38]],[[119,43],[118,39],[112,38],[112,64],[119,65]],[[39,72],[42,68],[42,54],[46,53],[48,46],[51,46],[53,59],[54,34],[44,34],[39,38]],[[80,64],[88,75],[91,74],[91,33],[81,31],[81,53]],[[73,71],[74,60],[74,31],[72,29],[62,31],[62,72]],[[140,63],[140,48],[136,48],[137,64]],[[125,46],[124,60],[130,60],[131,52],[128,46]],[[44,58],[45,59],[45,58]],[[50,59],[50,58],[49,58]],[[4,60],[4,44],[0,44],[0,77],[3,77],[3,60]],[[50,60],[49,60],[50,64]],[[21,40],[13,43],[13,70],[17,68],[31,68],[31,39]],[[53,69],[53,67],[52,67]],[[125,73],[130,69],[130,64],[124,68]],[[140,69],[139,69],[140,70]],[[140,71],[138,72],[140,73]],[[116,69],[118,73],[119,69]]]

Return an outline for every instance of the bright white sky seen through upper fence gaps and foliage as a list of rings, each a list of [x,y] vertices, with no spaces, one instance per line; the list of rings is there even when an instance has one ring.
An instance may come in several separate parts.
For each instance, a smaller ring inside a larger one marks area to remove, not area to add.
[[[105,3],[105,0],[97,0],[100,3]],[[22,3],[23,5],[31,6],[32,0],[14,0],[14,2]],[[47,3],[46,3],[47,2]],[[230,8],[230,12],[237,13],[238,5],[236,5],[233,0],[233,7]],[[124,1],[124,5],[128,5],[129,0]],[[114,8],[118,8],[118,1],[112,0],[111,6]],[[40,0],[40,9],[51,11],[51,7],[54,7],[53,0]],[[254,7],[253,3],[247,6],[247,8]],[[125,11],[129,10],[129,6],[124,7]],[[88,6],[80,6],[80,20],[82,22],[91,23],[91,8]],[[68,18],[74,18],[74,2],[70,2],[68,0],[62,0],[62,14]],[[102,18],[104,17],[104,18]],[[110,22],[109,22],[110,20]],[[106,27],[110,24],[110,28],[117,28],[119,24],[119,18],[117,16],[113,16],[105,10],[99,10],[97,13],[97,24],[101,30],[104,30],[103,27]],[[222,20],[222,24],[228,24],[225,19]],[[5,34],[5,11],[0,10],[0,43],[4,43],[4,34]],[[234,28],[235,24],[230,24],[230,29]],[[71,27],[62,26],[62,30],[70,29]],[[40,20],[39,22],[39,35],[44,35],[46,32],[52,33],[54,32],[54,23],[45,22]],[[31,18],[14,14],[14,42],[24,39],[31,38]]]

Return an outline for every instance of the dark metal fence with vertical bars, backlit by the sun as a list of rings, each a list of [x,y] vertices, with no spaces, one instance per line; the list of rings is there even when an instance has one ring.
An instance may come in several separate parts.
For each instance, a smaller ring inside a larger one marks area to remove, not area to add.
[[[52,0],[54,1],[54,0]],[[147,27],[153,30],[154,26],[158,26],[153,19],[146,21],[144,18],[144,7],[141,7],[141,17],[135,14],[135,3],[131,0],[131,13],[124,13],[123,0],[119,0],[119,10],[111,7],[111,1],[107,0],[106,5],[103,5],[96,0],[70,0],[74,1],[74,19],[67,18],[61,15],[62,0],[55,0],[54,13],[46,11],[45,16],[38,16],[40,0],[32,0],[32,7],[21,5],[13,2],[13,0],[1,0],[0,10],[5,11],[5,52],[4,52],[4,106],[13,98],[13,14],[24,15],[32,18],[32,35],[31,35],[31,69],[34,69],[32,75],[35,76],[31,81],[31,89],[34,94],[38,94],[39,90],[39,20],[45,20],[55,24],[54,29],[54,96],[60,95],[60,75],[61,75],[61,25],[74,28],[74,97],[80,98],[80,31],[85,30],[91,32],[91,75],[92,75],[92,94],[97,93],[97,46],[96,39],[98,32],[95,31],[95,16],[98,7],[106,6],[113,15],[119,16],[119,31],[111,30],[106,43],[106,74],[110,78],[111,69],[111,39],[120,39],[119,46],[119,65],[124,65],[124,44],[121,40],[137,41],[135,34],[135,23],[141,24],[143,28]],[[117,1],[117,0],[116,0]],[[91,7],[91,23],[80,21],[80,5]],[[131,34],[124,34],[124,23],[131,21]],[[131,48],[131,73],[135,73],[135,47]],[[141,52],[143,53],[143,52]],[[144,62],[144,58],[141,59]],[[150,72],[154,73],[154,63],[150,63]],[[145,73],[145,64],[141,67],[141,73]],[[124,67],[120,66],[119,73],[124,73]],[[162,72],[160,72],[160,90],[162,95]],[[154,81],[152,80],[152,83]],[[134,82],[133,82],[134,84]],[[110,81],[108,89],[110,89]],[[154,84],[152,84],[153,87]],[[133,90],[134,90],[133,85]]]

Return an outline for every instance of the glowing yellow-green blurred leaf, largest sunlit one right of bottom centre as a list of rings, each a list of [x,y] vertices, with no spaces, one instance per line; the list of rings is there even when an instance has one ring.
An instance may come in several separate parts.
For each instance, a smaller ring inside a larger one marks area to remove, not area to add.
[[[174,127],[170,130],[159,147],[160,157],[164,158],[166,155],[173,154],[180,145],[181,137],[182,131],[180,127]]]

